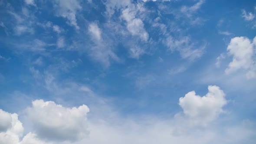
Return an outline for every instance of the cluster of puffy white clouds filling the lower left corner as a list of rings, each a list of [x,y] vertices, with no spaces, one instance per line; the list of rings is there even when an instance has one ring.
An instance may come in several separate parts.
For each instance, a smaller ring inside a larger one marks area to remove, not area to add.
[[[89,135],[87,113],[89,108],[66,108],[53,101],[35,100],[26,109],[26,116],[33,131],[23,136],[23,125],[17,114],[0,109],[0,144],[51,144],[51,142],[75,142]]]

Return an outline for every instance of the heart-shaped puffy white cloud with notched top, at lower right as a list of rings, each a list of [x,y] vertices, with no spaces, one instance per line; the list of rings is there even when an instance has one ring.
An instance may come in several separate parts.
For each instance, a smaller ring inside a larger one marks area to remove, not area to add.
[[[196,95],[195,91],[188,92],[180,98],[179,105],[191,124],[206,126],[223,112],[222,107],[226,105],[226,99],[218,86],[210,85],[205,96]]]

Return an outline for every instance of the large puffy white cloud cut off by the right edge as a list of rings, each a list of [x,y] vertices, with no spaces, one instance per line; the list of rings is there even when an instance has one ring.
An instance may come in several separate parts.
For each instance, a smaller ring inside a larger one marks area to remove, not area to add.
[[[233,56],[233,60],[229,63],[225,73],[230,74],[239,69],[245,69],[247,78],[254,78],[256,75],[255,47],[256,37],[253,41],[243,36],[231,39],[227,51],[230,56]]]

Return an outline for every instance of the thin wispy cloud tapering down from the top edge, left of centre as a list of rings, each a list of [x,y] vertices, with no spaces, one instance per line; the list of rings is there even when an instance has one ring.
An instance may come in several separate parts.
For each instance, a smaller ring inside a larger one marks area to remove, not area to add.
[[[76,13],[81,10],[79,0],[53,0],[57,16],[68,19],[68,24],[79,29],[76,22]]]

